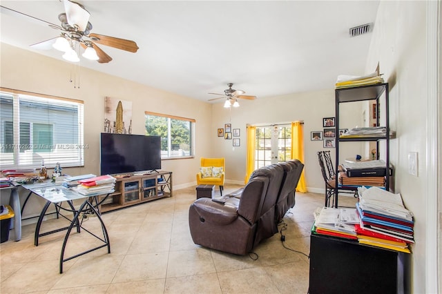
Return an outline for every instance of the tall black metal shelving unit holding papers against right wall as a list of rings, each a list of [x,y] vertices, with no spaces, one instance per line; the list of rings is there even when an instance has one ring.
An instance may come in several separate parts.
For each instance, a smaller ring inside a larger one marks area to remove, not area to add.
[[[356,86],[352,88],[340,88],[335,90],[335,108],[336,108],[336,134],[338,134],[339,130],[339,106],[343,103],[356,102],[356,101],[368,101],[368,100],[376,100],[376,114],[379,114],[379,104],[381,103],[381,97],[385,95],[385,136],[383,137],[347,137],[340,138],[339,135],[336,136],[336,175],[338,175],[338,166],[339,166],[339,145],[341,142],[361,142],[361,141],[376,141],[376,159],[379,159],[379,141],[385,141],[385,165],[387,168],[387,173],[385,175],[385,189],[390,190],[390,121],[389,121],[389,88],[388,83],[382,84],[374,84],[367,86]],[[380,116],[376,115],[376,126],[380,126]],[[334,199],[334,207],[338,207],[338,177],[336,177],[336,190],[335,190],[335,199]]]

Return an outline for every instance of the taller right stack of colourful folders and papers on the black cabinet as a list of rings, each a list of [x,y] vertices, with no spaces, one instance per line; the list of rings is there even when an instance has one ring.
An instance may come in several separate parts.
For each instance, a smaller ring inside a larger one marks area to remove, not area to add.
[[[355,226],[358,242],[410,253],[414,243],[413,214],[407,210],[400,194],[377,187],[358,188],[356,204],[360,222]]]

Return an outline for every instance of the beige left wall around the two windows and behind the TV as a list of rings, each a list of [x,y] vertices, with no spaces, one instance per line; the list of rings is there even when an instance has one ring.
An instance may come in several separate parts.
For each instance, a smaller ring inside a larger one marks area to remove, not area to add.
[[[87,61],[85,61],[87,62]],[[106,66],[106,65],[103,65]],[[195,170],[199,156],[209,153],[211,141],[211,105],[170,92],[143,86],[119,77],[81,68],[80,88],[68,82],[72,63],[59,61],[1,43],[0,86],[45,95],[55,95],[84,101],[84,167],[65,168],[70,175],[99,174],[99,133],[104,121],[104,97],[132,101],[133,134],[144,134],[144,111],[160,112],[196,119],[196,157],[163,160],[162,169],[173,172],[173,186],[180,188],[196,182]],[[32,205],[30,205],[32,206]],[[25,210],[28,214],[38,213]]]

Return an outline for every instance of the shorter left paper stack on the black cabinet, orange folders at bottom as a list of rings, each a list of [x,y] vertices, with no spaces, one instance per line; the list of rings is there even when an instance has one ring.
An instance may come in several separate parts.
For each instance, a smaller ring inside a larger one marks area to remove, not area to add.
[[[359,222],[355,208],[323,207],[318,208],[314,216],[312,233],[344,239],[358,239],[354,228],[354,225]]]

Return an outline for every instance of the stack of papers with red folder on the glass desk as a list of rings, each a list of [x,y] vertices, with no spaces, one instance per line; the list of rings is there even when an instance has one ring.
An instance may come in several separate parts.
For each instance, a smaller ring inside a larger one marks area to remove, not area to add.
[[[117,179],[111,175],[90,177],[79,180],[79,185],[73,190],[82,195],[95,196],[115,192],[115,182]]]

